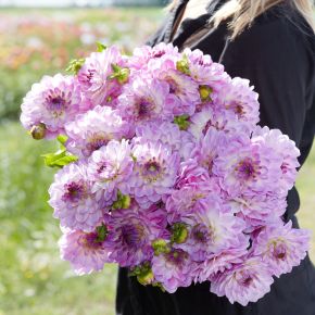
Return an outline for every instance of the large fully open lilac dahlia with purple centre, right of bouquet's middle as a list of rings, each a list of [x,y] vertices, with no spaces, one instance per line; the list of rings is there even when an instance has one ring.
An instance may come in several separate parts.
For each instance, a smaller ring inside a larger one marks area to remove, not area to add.
[[[264,143],[251,142],[247,137],[228,142],[213,161],[213,173],[231,198],[272,194],[279,187],[281,176],[277,154]]]

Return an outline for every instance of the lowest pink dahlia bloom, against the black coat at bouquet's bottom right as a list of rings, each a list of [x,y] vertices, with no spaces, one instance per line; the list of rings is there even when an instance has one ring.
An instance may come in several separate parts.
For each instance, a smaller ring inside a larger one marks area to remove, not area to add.
[[[218,297],[226,295],[232,304],[238,302],[245,306],[268,293],[273,282],[268,267],[252,257],[213,277],[210,290]]]

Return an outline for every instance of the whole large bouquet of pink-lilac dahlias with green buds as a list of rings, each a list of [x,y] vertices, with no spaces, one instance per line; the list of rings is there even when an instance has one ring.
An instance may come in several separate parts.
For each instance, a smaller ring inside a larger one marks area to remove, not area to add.
[[[46,76],[22,104],[59,167],[49,189],[61,257],[78,275],[105,263],[169,293],[210,281],[247,305],[306,255],[310,235],[285,223],[299,150],[260,127],[257,93],[199,50],[100,46]]]

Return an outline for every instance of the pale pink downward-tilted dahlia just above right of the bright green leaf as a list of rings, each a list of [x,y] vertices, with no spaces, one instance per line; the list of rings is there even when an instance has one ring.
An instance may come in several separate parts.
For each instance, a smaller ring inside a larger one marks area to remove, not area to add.
[[[67,150],[79,158],[88,158],[110,140],[127,137],[129,127],[118,111],[109,106],[97,106],[66,124],[65,133],[68,137]]]

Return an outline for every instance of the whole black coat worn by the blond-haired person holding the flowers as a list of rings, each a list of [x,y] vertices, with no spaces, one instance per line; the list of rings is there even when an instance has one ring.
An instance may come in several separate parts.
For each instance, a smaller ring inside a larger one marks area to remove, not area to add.
[[[171,39],[176,17],[188,0],[179,1],[150,45],[172,41],[182,49],[185,41],[206,25],[209,14],[186,20]],[[288,1],[287,1],[288,2]],[[315,131],[315,36],[302,16],[288,4],[278,4],[259,16],[251,28],[229,40],[225,24],[209,28],[191,49],[200,49],[225,65],[231,76],[250,79],[260,93],[261,125],[279,128],[301,151],[303,164],[310,153]],[[315,181],[315,179],[314,179]],[[298,227],[294,213],[300,205],[293,188],[288,196],[286,219]],[[119,269],[117,315],[315,315],[315,268],[308,256],[293,272],[275,280],[272,291],[257,303],[243,307],[230,304],[209,291],[209,284],[179,288],[174,294],[143,287],[127,270]]]

